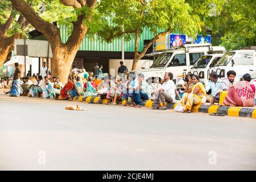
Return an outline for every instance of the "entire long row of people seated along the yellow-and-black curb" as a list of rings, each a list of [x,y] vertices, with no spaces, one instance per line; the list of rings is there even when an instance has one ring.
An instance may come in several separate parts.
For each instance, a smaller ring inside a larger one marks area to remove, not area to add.
[[[74,71],[74,70],[73,70]],[[181,85],[184,91],[177,90],[172,73],[165,73],[164,79],[159,80],[158,86],[150,88],[144,80],[143,73],[138,76],[135,73],[125,73],[121,76],[111,77],[109,75],[97,79],[92,72],[84,70],[71,72],[68,82],[63,86],[58,77],[35,76],[34,82],[29,77],[23,77],[20,84],[11,84],[10,96],[27,96],[43,98],[56,98],[56,100],[73,100],[76,96],[106,98],[109,105],[116,105],[118,100],[125,100],[124,106],[142,107],[142,100],[154,100],[152,109],[166,110],[167,103],[179,100],[183,113],[190,113],[193,105],[211,105],[220,101],[220,92],[227,91],[222,106],[255,106],[256,81],[251,80],[249,74],[243,75],[243,80],[235,82],[236,72],[229,71],[224,80],[218,78],[216,72],[209,75],[210,82],[205,86],[199,81],[199,76],[190,75],[188,80],[180,80],[177,85]],[[14,74],[14,81],[17,81],[18,67]],[[16,74],[17,73],[17,74]],[[10,80],[11,81],[11,80]],[[19,82],[19,81],[18,81]],[[5,84],[6,85],[6,84]],[[9,82],[7,83],[9,85]],[[13,91],[12,91],[13,90]],[[20,92],[19,92],[20,90]],[[59,97],[60,96],[60,97]],[[131,98],[131,102],[128,102]]]

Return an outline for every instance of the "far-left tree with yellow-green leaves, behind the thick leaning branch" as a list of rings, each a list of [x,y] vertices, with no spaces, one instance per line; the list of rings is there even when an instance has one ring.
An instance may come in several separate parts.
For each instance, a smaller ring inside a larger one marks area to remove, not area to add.
[[[57,0],[26,2],[36,14],[49,22],[61,21],[73,14],[70,7],[62,5]],[[13,9],[9,0],[0,1],[0,67],[13,49],[14,39],[28,38],[28,32],[33,29],[30,22],[19,11]]]

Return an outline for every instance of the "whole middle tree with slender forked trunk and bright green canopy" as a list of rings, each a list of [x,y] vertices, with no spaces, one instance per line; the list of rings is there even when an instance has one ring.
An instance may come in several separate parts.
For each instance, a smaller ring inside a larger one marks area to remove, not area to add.
[[[182,32],[195,37],[199,32],[205,32],[208,27],[216,28],[209,11],[214,2],[214,12],[221,11],[223,1],[200,0],[101,0],[98,10],[102,18],[98,18],[101,29],[97,34],[106,41],[125,35],[135,37],[135,53],[133,69],[139,59],[146,53],[152,43],[168,32]],[[144,28],[148,28],[155,36],[138,52],[138,39]]]

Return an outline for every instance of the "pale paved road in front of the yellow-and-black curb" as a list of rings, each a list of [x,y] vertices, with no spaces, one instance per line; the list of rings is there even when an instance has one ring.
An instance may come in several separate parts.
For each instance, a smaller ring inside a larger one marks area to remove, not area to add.
[[[256,120],[0,96],[0,169],[256,169]]]

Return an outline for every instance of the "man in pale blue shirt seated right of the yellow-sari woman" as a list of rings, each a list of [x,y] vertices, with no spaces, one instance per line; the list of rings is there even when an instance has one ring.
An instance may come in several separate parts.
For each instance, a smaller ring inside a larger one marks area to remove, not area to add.
[[[212,97],[210,97],[210,105],[214,105],[214,102],[218,103],[220,101],[220,91],[221,90],[228,91],[229,88],[220,78],[218,78],[218,75],[216,72],[210,73],[209,78],[210,78],[210,82],[207,85],[207,88],[205,90],[207,92],[209,90],[212,91],[211,93]]]

